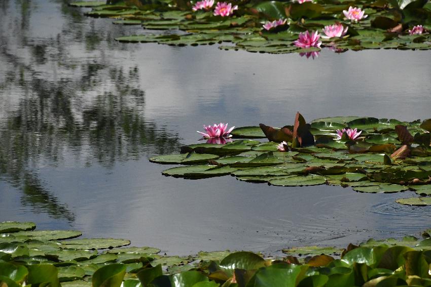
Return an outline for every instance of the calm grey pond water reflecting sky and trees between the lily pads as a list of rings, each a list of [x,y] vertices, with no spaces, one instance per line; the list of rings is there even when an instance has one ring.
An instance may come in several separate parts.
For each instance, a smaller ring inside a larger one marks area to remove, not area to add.
[[[150,163],[203,124],[271,126],[362,115],[430,118],[431,53],[369,50],[317,59],[215,46],[120,44],[139,26],[66,1],[0,2],[0,221],[131,239],[169,254],[274,253],[419,235],[431,207],[339,186],[164,177]]]

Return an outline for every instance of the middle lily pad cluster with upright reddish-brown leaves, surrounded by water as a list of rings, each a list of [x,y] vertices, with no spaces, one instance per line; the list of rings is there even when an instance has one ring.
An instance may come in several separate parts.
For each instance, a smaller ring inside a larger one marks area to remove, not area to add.
[[[356,128],[360,137],[341,138],[337,130]],[[238,180],[278,186],[339,185],[357,192],[415,191],[402,204],[431,205],[431,119],[403,122],[374,117],[328,117],[293,126],[241,127],[226,144],[186,145],[181,153],[150,161],[180,164],[165,176],[200,179],[231,175]],[[262,141],[267,138],[269,141]],[[260,140],[257,140],[260,139]],[[285,142],[287,151],[277,146]]]

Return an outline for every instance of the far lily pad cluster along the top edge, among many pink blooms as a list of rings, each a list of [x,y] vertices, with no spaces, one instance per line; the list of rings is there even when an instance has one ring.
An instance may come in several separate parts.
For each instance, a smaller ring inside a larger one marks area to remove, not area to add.
[[[107,2],[75,2],[78,7],[91,7],[86,15],[111,17],[115,24],[141,25],[148,30],[138,35],[118,37],[120,42],[159,43],[172,46],[222,44],[225,50],[246,50],[261,53],[301,53],[316,56],[319,47],[300,48],[294,45],[299,33],[317,31],[341,23],[348,28],[341,37],[322,39],[324,47],[340,53],[346,50],[431,48],[431,3],[428,0],[356,0],[334,1],[258,1],[237,0],[233,15],[214,16],[213,11],[193,11],[196,1],[186,0],[111,0]],[[367,18],[351,22],[343,11],[360,7]],[[286,19],[270,30],[263,24]],[[415,25],[424,32],[410,34]]]

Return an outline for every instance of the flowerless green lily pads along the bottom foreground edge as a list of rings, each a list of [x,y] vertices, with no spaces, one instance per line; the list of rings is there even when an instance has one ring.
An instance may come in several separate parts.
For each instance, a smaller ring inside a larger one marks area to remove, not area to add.
[[[0,223],[1,286],[431,286],[429,230],[422,240],[369,239],[346,249],[292,247],[280,257],[222,251],[181,258],[158,256],[156,248],[115,248],[130,243],[124,239],[60,241],[81,232],[34,228],[31,222]]]

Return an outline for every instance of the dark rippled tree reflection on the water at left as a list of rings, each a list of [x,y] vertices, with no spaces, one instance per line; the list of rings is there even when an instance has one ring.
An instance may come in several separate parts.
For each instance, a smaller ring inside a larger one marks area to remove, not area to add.
[[[37,4],[1,3],[0,176],[23,192],[22,206],[71,222],[74,213],[39,178],[41,168],[73,161],[111,169],[117,161],[178,150],[179,138],[146,119],[138,67],[110,62],[119,50],[110,43],[113,36],[80,22],[66,1],[57,3],[67,29],[31,40]],[[100,46],[101,57],[93,57]]]

